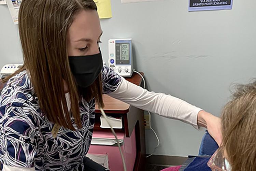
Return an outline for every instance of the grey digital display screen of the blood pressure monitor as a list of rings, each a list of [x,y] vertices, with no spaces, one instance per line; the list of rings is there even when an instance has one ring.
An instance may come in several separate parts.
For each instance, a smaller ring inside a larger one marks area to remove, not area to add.
[[[130,44],[116,43],[116,63],[129,64],[130,63]]]

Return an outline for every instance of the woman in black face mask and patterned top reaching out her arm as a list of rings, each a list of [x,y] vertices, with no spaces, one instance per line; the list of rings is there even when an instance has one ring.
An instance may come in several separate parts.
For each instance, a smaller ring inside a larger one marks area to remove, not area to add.
[[[181,99],[149,92],[102,65],[93,0],[23,0],[24,66],[0,96],[3,170],[104,170],[88,158],[95,103],[102,94],[194,127],[221,143],[219,118]]]

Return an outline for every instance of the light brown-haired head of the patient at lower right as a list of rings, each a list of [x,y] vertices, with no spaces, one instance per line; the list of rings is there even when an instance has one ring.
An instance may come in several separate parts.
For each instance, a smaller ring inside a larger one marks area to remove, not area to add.
[[[232,171],[256,170],[256,82],[238,85],[222,113],[222,149]]]

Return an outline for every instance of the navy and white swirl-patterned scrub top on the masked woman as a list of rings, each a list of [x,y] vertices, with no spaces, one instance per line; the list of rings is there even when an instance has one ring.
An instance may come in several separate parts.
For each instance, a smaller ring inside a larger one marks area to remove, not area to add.
[[[112,69],[102,68],[103,93],[121,82]],[[61,127],[54,139],[53,123],[42,113],[26,71],[12,77],[0,96],[0,163],[35,170],[84,170],[83,159],[93,135],[95,100],[80,103],[82,128]],[[71,117],[72,123],[74,118]]]

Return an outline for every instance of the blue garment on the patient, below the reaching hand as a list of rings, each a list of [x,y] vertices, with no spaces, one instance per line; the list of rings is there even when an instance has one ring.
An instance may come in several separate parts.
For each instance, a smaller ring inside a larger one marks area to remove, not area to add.
[[[188,156],[180,171],[211,171],[207,163],[217,149],[218,144],[206,131],[199,148],[199,156]]]

